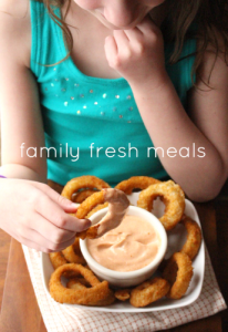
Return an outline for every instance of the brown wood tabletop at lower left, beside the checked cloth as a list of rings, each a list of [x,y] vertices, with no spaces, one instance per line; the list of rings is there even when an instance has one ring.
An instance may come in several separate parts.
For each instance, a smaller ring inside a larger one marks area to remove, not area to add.
[[[2,299],[0,331],[37,332],[40,331],[41,321],[41,313],[21,245],[12,239]]]

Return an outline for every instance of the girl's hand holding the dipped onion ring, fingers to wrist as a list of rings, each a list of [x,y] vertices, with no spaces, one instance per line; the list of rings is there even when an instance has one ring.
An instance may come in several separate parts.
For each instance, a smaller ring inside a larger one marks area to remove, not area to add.
[[[91,226],[87,219],[68,215],[75,212],[75,205],[48,185],[1,179],[0,188],[0,227],[28,247],[60,251],[74,242],[77,231]]]

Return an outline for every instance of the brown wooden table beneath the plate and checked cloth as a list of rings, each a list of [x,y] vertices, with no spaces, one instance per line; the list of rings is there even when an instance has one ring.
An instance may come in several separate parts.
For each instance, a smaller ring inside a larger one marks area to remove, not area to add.
[[[55,187],[55,189],[59,191],[61,188]],[[218,280],[220,280],[222,279],[221,277],[222,271],[219,268],[219,263],[224,266],[224,263],[226,264],[226,262],[220,262],[218,260],[219,248],[217,241],[215,203],[210,201],[207,204],[195,204],[195,207],[198,211],[199,219],[201,221],[204,238],[208,251],[210,253],[214,270],[216,272]],[[228,248],[227,242],[228,242],[228,238],[226,241],[226,246],[227,246],[226,248]],[[2,257],[1,259],[6,259],[7,257],[6,251],[7,250],[3,250],[3,256],[1,256]],[[0,274],[0,286],[2,286],[2,280],[3,280],[2,274],[4,273]],[[0,297],[1,297],[1,290],[0,290]],[[172,329],[170,331],[221,332],[222,317],[225,317],[225,312]],[[11,239],[8,266],[6,271],[6,281],[3,287],[3,299],[2,299],[1,317],[0,317],[0,331],[1,332],[46,331],[37,303],[37,299],[34,297],[34,291],[28,273],[21,245],[17,242],[14,239]]]

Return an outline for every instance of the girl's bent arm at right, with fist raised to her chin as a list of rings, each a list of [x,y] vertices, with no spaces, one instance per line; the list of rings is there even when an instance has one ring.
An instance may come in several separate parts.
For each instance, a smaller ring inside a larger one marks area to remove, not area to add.
[[[218,195],[228,175],[228,69],[218,58],[207,92],[191,89],[188,117],[170,82],[164,61],[159,29],[145,20],[136,29],[115,31],[105,44],[110,65],[129,83],[144,124],[155,147],[163,147],[160,162],[189,198],[209,200]],[[214,54],[205,56],[201,72],[208,77]],[[168,157],[175,147],[205,147],[205,157]]]

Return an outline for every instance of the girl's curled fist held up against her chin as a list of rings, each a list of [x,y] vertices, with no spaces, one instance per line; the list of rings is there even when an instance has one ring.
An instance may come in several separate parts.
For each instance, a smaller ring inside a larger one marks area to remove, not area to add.
[[[153,89],[167,77],[163,34],[148,17],[132,30],[114,30],[105,39],[105,53],[110,66],[129,85],[151,81]]]

